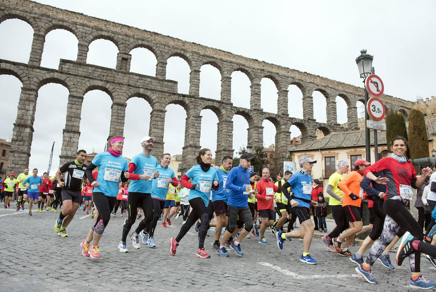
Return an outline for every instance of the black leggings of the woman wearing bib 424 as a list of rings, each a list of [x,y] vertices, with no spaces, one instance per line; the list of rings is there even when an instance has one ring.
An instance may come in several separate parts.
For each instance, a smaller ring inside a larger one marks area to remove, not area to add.
[[[207,212],[207,207],[204,205],[202,198],[194,198],[189,200],[189,204],[192,207],[192,211],[189,214],[186,223],[180,228],[179,234],[176,237],[176,242],[185,236],[187,231],[191,229],[192,225],[197,222],[198,219],[202,221],[198,229],[198,248],[202,249],[204,247],[204,238],[206,238],[207,229],[209,226],[209,214]]]

